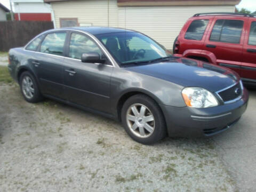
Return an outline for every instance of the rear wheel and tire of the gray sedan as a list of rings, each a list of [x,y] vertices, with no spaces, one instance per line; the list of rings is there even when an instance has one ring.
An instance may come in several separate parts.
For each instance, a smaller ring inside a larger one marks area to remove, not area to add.
[[[19,84],[21,93],[26,101],[31,103],[42,101],[43,96],[39,91],[35,77],[29,71],[21,74]]]

